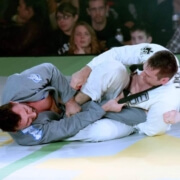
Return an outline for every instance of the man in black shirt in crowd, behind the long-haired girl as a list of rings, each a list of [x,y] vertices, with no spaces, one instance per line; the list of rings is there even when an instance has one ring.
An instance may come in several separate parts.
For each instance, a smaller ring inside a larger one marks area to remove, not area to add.
[[[90,16],[90,24],[96,32],[97,38],[106,50],[106,42],[115,36],[117,22],[107,17],[109,6],[107,0],[89,0],[87,13]]]

